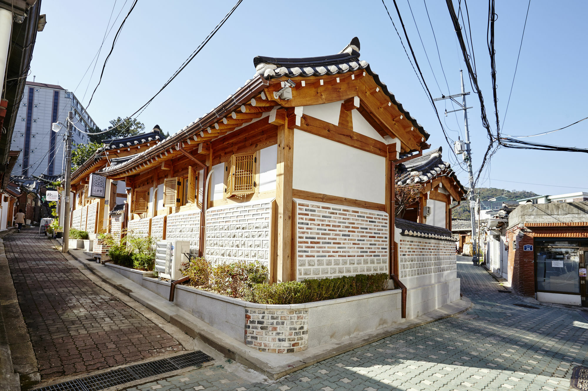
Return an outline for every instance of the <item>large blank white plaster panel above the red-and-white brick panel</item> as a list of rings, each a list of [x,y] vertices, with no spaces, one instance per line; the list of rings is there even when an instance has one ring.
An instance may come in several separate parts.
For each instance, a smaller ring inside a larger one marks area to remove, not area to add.
[[[294,130],[293,188],[384,203],[385,158]]]

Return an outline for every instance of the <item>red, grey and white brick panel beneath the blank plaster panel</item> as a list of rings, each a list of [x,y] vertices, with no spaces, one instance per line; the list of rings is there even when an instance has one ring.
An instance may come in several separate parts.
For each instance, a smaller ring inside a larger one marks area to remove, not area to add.
[[[296,201],[298,280],[388,272],[388,215]]]

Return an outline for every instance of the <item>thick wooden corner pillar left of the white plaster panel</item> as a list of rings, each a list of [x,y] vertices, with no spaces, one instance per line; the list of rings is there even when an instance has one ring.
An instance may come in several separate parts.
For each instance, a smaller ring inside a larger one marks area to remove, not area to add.
[[[292,169],[294,130],[288,119],[278,126],[278,164],[276,164],[276,210],[278,241],[276,247],[276,279],[292,281],[296,259],[292,259]]]

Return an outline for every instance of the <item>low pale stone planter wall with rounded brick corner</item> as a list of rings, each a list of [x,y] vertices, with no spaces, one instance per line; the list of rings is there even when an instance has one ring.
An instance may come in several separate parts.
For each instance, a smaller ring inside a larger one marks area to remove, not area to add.
[[[106,264],[169,298],[170,282]],[[177,285],[173,304],[239,342],[270,353],[293,353],[402,323],[400,289],[306,304],[266,305]]]

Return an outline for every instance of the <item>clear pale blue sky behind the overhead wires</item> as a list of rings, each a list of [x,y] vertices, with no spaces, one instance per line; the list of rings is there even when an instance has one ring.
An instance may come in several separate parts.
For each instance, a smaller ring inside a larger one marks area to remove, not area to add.
[[[397,0],[397,3],[433,97],[459,92],[459,69],[465,69],[465,64],[457,48],[445,1],[426,0],[426,5],[449,91],[424,2],[410,0],[423,44],[419,40],[409,2]],[[59,84],[65,89],[75,90],[78,99],[87,105],[115,32],[131,4],[132,0],[43,0],[41,13],[47,15],[47,25],[37,35],[28,80],[35,75],[37,82]],[[225,0],[139,0],[122,29],[106,65],[102,83],[89,106],[88,113],[93,120],[105,128],[109,120],[135,112],[161,88],[234,4]],[[527,1],[520,0],[499,0],[496,4],[497,91],[504,134],[546,132],[588,116],[584,20],[588,3],[570,1],[554,6],[553,2],[532,0],[519,68],[504,120],[527,4]],[[406,45],[392,0],[386,0],[386,5]],[[456,10],[457,6],[455,1]],[[490,58],[486,44],[487,2],[470,1],[468,6],[480,89],[488,120],[495,129]],[[94,67],[92,59],[102,43],[113,9],[110,26],[119,11],[122,12],[106,36],[98,65],[90,78]],[[431,146],[443,147],[443,158],[452,163],[460,180],[467,186],[467,174],[450,153],[433,108],[392,22],[382,2],[377,0],[319,1],[306,5],[245,0],[208,45],[138,119],[145,123],[148,130],[159,124],[164,131],[175,133],[209,112],[250,79],[255,73],[253,58],[256,55],[330,55],[343,49],[354,36],[358,36],[361,42],[361,59],[370,63],[389,90],[431,134],[428,141]],[[466,73],[465,80],[466,91],[472,91]],[[447,105],[448,110],[453,110],[449,103]],[[474,93],[467,96],[467,105],[473,106],[468,113],[473,162],[477,170],[489,140],[482,127],[480,103]],[[457,139],[458,134],[463,135],[463,114],[450,113],[445,117],[445,103],[437,102],[437,107],[448,136]],[[588,120],[547,136],[524,140],[586,147],[586,129]],[[538,194],[588,191],[586,175],[582,174],[587,163],[588,156],[584,153],[500,149],[487,170],[483,171],[478,186],[530,190]]]

